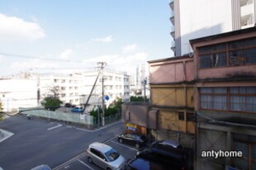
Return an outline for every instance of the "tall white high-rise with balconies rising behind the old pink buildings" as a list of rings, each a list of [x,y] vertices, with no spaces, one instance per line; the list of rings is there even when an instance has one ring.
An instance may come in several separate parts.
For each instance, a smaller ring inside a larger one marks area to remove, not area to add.
[[[192,53],[189,40],[255,25],[256,0],[170,0],[171,49]]]

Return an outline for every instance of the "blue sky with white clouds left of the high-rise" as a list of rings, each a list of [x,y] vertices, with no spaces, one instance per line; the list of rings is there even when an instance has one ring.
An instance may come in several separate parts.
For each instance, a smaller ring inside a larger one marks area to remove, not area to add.
[[[0,0],[0,78],[173,56],[168,0]]]

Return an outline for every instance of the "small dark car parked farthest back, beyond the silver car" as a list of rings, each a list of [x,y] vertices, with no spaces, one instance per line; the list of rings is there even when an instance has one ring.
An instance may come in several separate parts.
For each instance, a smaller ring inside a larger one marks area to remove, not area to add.
[[[147,143],[145,135],[127,133],[118,136],[118,141],[120,143],[130,144],[135,146],[136,149],[140,149],[142,146],[145,146]]]

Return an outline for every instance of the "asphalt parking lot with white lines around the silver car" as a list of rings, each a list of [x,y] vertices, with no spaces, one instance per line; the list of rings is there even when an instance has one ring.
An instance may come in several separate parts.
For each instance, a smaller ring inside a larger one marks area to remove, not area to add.
[[[121,144],[117,141],[117,136],[109,139],[105,142],[105,144],[111,146],[112,148],[116,149],[118,153],[121,153],[121,155],[127,159],[133,158],[135,154],[137,153],[138,149],[135,149],[135,147],[127,145],[127,144]],[[88,153],[84,152],[80,155],[78,155],[75,158],[70,159],[68,162],[63,163],[57,168],[54,168],[54,170],[74,170],[74,169],[87,169],[87,170],[100,170],[102,168],[97,167],[97,165],[93,163],[88,163]]]

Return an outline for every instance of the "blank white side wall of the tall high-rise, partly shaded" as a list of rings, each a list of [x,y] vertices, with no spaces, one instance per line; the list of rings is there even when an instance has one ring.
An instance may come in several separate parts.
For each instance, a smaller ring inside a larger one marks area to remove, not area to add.
[[[189,40],[232,31],[230,0],[179,0],[179,12],[180,55],[192,52]]]

